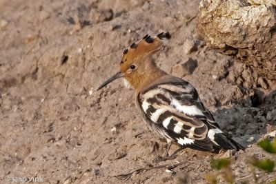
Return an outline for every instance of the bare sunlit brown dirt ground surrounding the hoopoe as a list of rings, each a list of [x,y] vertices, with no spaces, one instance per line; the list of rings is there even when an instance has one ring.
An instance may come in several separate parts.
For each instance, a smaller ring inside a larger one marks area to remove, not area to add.
[[[40,177],[41,183],[206,183],[208,152],[184,149],[157,161],[166,142],[141,120],[134,91],[115,81],[124,48],[146,34],[168,30],[172,39],[156,55],[166,72],[189,58],[192,83],[221,128],[242,145],[233,174],[253,182],[246,163],[255,145],[275,130],[276,85],[246,88],[234,75],[249,70],[197,39],[197,1],[0,1],[0,183]],[[235,72],[231,72],[235,70]],[[229,75],[231,74],[231,75]],[[173,145],[170,154],[179,147]],[[115,177],[141,167],[176,164]],[[263,174],[264,181],[271,174]]]

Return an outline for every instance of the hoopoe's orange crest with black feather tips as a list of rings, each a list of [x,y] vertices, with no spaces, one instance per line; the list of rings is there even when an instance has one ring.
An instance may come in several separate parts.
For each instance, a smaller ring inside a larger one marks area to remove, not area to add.
[[[161,32],[154,38],[148,34],[141,39],[138,43],[132,43],[129,48],[124,50],[121,57],[121,64],[125,61],[133,61],[135,59],[141,59],[142,57],[148,57],[154,52],[162,48],[162,42],[164,39],[170,39],[169,32]]]

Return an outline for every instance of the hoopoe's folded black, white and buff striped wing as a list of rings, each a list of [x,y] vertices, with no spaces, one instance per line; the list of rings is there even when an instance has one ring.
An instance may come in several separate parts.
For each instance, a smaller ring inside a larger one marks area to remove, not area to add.
[[[222,133],[219,125],[190,83],[155,85],[139,94],[139,105],[148,125],[166,139],[204,151],[217,145],[214,136]]]

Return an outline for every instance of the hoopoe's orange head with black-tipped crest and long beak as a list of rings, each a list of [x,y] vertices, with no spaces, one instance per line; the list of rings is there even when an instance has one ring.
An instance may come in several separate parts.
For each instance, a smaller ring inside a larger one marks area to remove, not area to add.
[[[121,77],[124,77],[132,87],[138,88],[139,85],[154,76],[155,72],[160,70],[150,56],[162,48],[164,39],[170,39],[169,32],[161,32],[154,38],[147,34],[137,44],[132,43],[129,48],[124,50],[120,62],[120,71],[103,82],[98,90]]]

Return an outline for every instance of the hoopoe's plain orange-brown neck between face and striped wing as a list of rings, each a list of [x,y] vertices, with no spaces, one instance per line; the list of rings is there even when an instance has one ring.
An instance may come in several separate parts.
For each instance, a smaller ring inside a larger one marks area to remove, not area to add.
[[[144,72],[134,72],[126,76],[126,80],[135,88],[136,92],[140,92],[147,85],[156,81],[161,76],[166,75],[166,72],[157,68],[155,63],[148,62]]]

